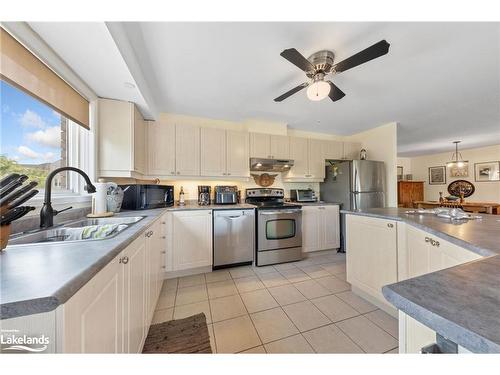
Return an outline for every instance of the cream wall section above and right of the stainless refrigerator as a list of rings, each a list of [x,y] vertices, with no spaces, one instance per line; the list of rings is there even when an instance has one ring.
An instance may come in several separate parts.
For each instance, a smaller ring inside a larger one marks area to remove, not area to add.
[[[367,159],[383,161],[386,168],[386,206],[398,206],[397,187],[397,123],[391,122],[347,137],[346,140],[361,142]]]

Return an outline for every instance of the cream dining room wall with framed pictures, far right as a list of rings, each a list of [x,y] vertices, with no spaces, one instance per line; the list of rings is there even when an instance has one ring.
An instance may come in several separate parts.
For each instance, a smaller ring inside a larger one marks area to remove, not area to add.
[[[460,150],[464,160],[469,161],[469,177],[451,178],[449,170],[446,171],[446,184],[429,185],[429,167],[446,165],[450,161],[450,152],[424,155],[411,158],[411,170],[413,179],[425,181],[424,198],[426,200],[438,200],[439,192],[448,195],[448,184],[454,180],[467,180],[474,184],[476,191],[468,200],[482,202],[500,202],[500,182],[478,182],[474,177],[474,163],[500,160],[500,145]]]

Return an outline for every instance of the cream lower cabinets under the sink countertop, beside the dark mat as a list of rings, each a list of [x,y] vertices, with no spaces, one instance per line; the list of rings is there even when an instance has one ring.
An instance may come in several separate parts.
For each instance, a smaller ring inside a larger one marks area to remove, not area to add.
[[[158,228],[154,223],[58,309],[59,352],[142,351],[161,289]]]

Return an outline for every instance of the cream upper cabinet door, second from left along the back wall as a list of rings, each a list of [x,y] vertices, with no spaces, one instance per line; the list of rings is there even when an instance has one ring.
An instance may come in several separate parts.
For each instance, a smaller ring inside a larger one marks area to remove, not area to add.
[[[175,126],[175,167],[180,176],[200,175],[200,128]]]

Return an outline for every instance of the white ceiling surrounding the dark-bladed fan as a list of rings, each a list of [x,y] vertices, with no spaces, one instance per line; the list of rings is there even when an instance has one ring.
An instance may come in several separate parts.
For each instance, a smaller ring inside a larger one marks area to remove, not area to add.
[[[127,64],[118,61],[105,24],[30,25],[99,96],[142,99],[140,92],[123,87],[132,78],[126,77]],[[464,148],[500,143],[498,23],[142,22],[123,27],[129,35],[142,34],[130,43],[148,67],[143,73],[162,112],[278,120],[294,129],[339,135],[397,121],[401,156],[448,151],[455,139]],[[391,44],[386,56],[333,77],[346,93],[340,101],[311,102],[305,90],[273,101],[305,81],[280,57],[283,49],[295,47],[306,57],[331,49],[340,61],[381,39]]]

